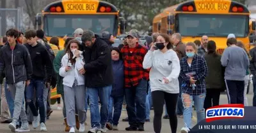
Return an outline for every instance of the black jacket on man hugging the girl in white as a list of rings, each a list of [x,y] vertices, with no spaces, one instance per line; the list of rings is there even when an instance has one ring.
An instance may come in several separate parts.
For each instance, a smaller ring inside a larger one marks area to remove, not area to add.
[[[95,35],[92,48],[84,47],[86,87],[107,87],[113,83],[111,52],[108,44]]]

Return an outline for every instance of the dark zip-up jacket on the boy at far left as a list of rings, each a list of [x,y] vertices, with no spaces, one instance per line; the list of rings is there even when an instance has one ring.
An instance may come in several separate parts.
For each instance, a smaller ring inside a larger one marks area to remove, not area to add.
[[[0,51],[0,74],[5,69],[8,84],[30,80],[32,75],[33,67],[28,49],[17,41],[16,43],[17,45],[15,45],[13,51],[8,42]]]

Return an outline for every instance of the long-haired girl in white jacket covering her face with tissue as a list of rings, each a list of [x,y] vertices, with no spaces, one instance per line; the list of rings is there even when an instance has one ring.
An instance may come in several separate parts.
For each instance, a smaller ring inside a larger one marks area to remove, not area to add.
[[[83,67],[83,55],[79,51],[79,41],[72,39],[67,45],[65,55],[61,59],[60,76],[63,77],[63,87],[65,95],[65,106],[67,114],[67,124],[69,132],[75,132],[76,116],[75,105],[79,117],[79,132],[84,132],[84,122],[86,120],[85,111],[85,88],[84,75],[79,73]],[[77,103],[76,103],[77,102]],[[78,104],[79,103],[79,104]]]

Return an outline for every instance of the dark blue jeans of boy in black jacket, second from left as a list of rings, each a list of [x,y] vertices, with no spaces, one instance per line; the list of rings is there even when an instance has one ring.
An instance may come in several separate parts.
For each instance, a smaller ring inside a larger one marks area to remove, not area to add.
[[[45,107],[44,107],[44,80],[34,80],[30,81],[28,87],[26,87],[26,103],[28,104],[33,116],[38,116],[38,111],[33,102],[34,88],[36,90],[36,102],[38,104],[40,113],[40,123],[45,123]]]

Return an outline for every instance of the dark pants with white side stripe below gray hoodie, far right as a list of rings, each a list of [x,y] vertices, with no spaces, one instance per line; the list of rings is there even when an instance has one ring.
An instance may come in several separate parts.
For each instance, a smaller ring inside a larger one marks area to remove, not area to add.
[[[228,104],[244,104],[244,81],[225,80]]]

